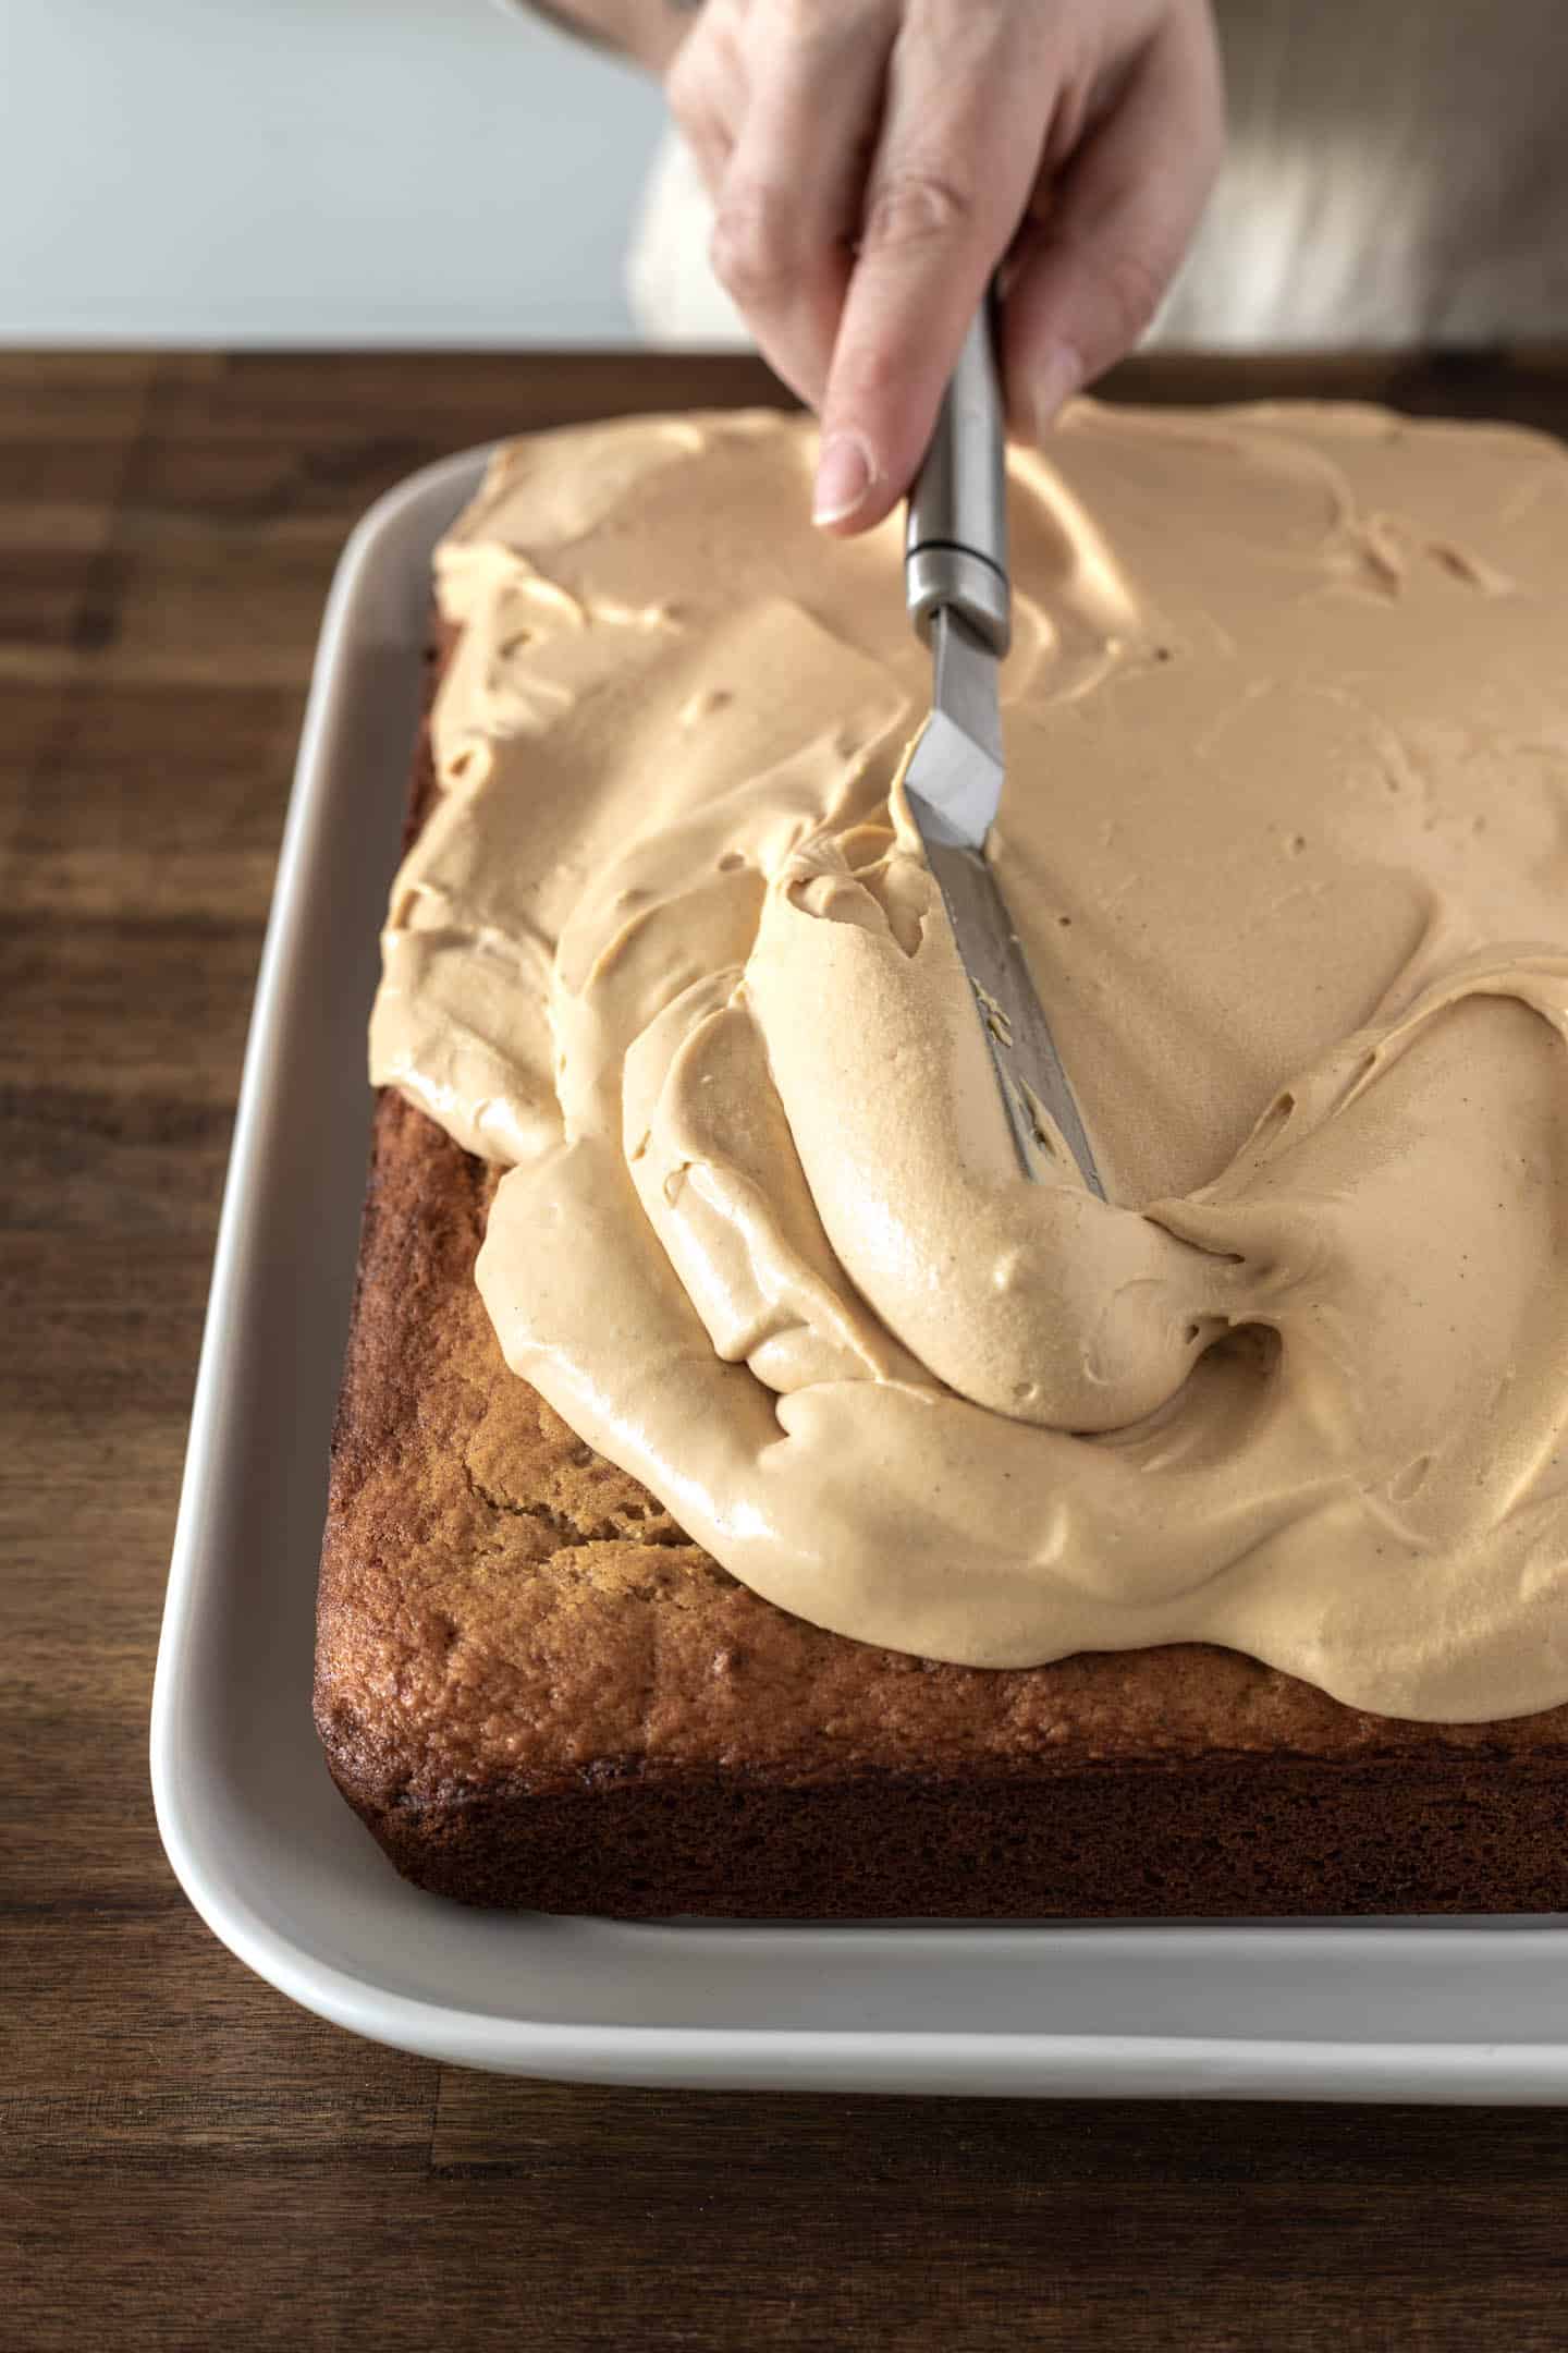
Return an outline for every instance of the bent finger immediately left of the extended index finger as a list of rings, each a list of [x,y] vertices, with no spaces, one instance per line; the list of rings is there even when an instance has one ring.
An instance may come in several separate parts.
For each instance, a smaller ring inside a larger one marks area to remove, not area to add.
[[[757,12],[741,136],[717,193],[712,268],[764,355],[816,405],[893,45],[893,9]]]

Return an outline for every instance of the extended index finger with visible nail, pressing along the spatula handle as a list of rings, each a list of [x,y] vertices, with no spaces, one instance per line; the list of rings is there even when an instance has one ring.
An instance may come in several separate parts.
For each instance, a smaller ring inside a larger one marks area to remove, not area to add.
[[[903,496],[985,282],[1034,184],[1056,75],[1044,9],[910,7],[823,395],[813,518],[860,532]]]

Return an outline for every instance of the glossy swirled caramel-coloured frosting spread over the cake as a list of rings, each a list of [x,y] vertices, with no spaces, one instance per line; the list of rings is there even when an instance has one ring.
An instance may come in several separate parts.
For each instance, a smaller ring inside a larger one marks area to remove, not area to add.
[[[748,1586],[971,1666],[1568,1699],[1568,456],[1077,402],[994,861],[1107,1176],[1013,1165],[900,805],[896,522],[806,424],[505,449],[378,1082],[505,1162],[515,1372]]]

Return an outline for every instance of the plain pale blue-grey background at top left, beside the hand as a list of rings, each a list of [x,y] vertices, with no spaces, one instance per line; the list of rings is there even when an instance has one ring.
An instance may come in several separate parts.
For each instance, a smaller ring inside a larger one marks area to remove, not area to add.
[[[632,341],[658,122],[501,0],[0,0],[0,341]]]

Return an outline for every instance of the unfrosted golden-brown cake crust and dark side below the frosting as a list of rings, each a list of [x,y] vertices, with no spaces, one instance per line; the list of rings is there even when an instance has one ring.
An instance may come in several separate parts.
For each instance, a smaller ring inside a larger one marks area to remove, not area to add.
[[[430,791],[421,729],[411,826]],[[621,1915],[1568,1908],[1568,1708],[1394,1722],[1197,1645],[940,1666],[759,1600],[505,1369],[491,1188],[381,1099],[315,1715],[409,1878]]]

